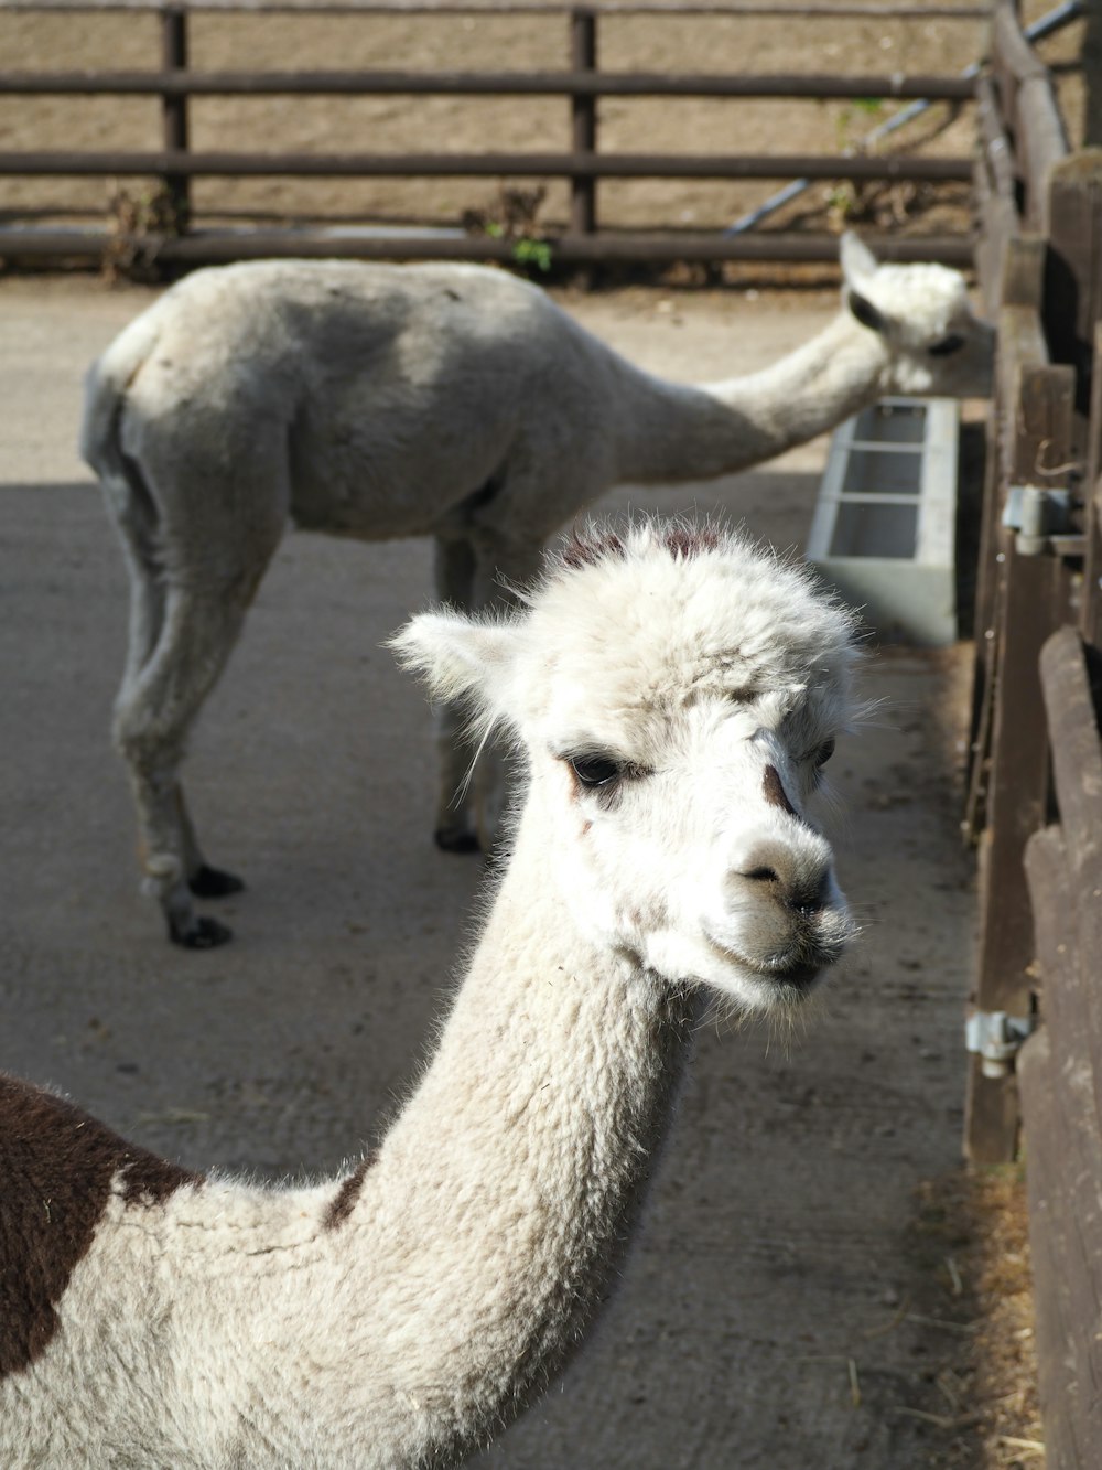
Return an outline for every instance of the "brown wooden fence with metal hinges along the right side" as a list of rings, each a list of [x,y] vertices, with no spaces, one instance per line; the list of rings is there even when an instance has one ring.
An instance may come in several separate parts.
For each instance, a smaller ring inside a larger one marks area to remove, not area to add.
[[[1068,153],[1009,0],[979,104],[977,259],[999,363],[967,814],[980,844],[980,953],[965,1148],[1006,1161],[1024,1132],[1046,1463],[1092,1470],[1102,1446],[1102,150]]]

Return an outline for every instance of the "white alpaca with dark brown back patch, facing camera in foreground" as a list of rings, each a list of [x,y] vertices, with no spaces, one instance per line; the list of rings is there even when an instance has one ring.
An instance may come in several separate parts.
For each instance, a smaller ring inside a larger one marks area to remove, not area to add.
[[[702,997],[796,1007],[852,925],[805,816],[848,614],[742,539],[576,539],[523,613],[416,617],[439,695],[526,757],[433,1060],[344,1179],[187,1175],[0,1079],[4,1470],[425,1470],[576,1349]]]

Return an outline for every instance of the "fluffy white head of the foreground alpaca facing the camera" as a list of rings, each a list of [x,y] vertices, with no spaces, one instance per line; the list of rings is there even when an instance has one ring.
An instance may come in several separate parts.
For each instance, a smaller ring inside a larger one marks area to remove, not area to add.
[[[395,645],[511,732],[519,841],[563,914],[671,983],[802,1000],[852,936],[805,814],[849,716],[849,614],[739,535],[661,522],[575,537],[525,601]]]

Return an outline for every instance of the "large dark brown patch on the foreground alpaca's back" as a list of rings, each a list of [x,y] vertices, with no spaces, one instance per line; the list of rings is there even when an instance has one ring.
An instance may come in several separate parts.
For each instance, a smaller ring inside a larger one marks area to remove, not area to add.
[[[54,1308],[118,1173],[134,1205],[203,1182],[65,1098],[0,1075],[0,1377],[29,1367],[57,1330]]]

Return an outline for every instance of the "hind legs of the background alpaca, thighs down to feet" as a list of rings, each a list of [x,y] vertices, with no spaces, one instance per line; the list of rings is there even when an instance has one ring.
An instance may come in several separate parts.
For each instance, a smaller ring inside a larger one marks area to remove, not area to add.
[[[284,534],[291,498],[287,429],[251,404],[192,423],[182,406],[140,422],[141,451],[106,479],[131,569],[131,642],[115,742],[131,773],[145,891],[169,936],[210,948],[229,929],[191,895],[244,885],[204,861],[179,784],[188,731],[225,667]],[[231,472],[228,473],[228,466]]]

